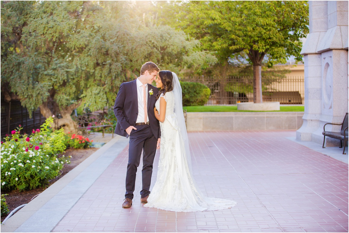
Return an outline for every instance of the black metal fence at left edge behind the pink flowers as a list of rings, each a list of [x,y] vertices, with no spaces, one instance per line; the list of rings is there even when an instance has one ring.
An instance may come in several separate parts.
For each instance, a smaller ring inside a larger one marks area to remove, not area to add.
[[[19,125],[23,127],[21,134],[30,134],[32,129],[39,128],[45,120],[39,108],[33,112],[32,118],[29,118],[27,108],[22,107],[20,101],[12,100],[7,103],[1,98],[1,140]]]

